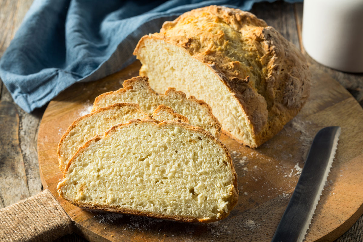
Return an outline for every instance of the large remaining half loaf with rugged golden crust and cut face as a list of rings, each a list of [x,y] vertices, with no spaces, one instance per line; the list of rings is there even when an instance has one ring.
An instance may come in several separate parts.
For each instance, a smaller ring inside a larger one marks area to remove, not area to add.
[[[258,147],[305,103],[310,72],[301,52],[252,13],[192,10],[139,41],[134,54],[158,93],[175,87],[203,99],[240,143]]]

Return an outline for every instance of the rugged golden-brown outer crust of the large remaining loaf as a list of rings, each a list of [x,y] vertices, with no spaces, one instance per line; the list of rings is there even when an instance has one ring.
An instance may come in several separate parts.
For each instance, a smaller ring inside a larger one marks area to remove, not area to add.
[[[179,46],[219,77],[252,124],[253,147],[277,134],[309,95],[311,74],[301,52],[252,13],[215,5],[194,9],[142,37],[135,55],[146,39]]]

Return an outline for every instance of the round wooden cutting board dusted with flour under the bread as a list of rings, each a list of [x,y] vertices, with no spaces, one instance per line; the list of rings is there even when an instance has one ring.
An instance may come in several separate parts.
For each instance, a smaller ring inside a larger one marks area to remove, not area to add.
[[[89,241],[270,241],[289,202],[314,135],[323,127],[342,132],[306,241],[333,241],[363,213],[363,110],[355,99],[327,74],[311,69],[311,94],[298,116],[273,139],[256,149],[225,135],[238,175],[240,196],[229,217],[214,223],[181,223],[147,217],[90,212],[56,192],[62,173],[57,145],[74,119],[89,113],[99,94],[122,87],[138,75],[140,63],[89,83],[77,83],[49,103],[38,134],[39,167],[49,188],[68,215],[74,230]]]

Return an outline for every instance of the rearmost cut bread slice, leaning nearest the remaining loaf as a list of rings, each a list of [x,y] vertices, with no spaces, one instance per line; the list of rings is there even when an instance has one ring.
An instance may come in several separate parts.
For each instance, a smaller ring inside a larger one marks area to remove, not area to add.
[[[123,82],[123,88],[99,95],[93,103],[93,110],[115,102],[138,103],[148,115],[152,115],[160,104],[164,104],[187,117],[190,124],[208,130],[217,138],[220,136],[221,125],[207,103],[195,97],[187,98],[175,88],[169,88],[165,95],[158,95],[150,88],[148,78],[144,76],[126,80]]]

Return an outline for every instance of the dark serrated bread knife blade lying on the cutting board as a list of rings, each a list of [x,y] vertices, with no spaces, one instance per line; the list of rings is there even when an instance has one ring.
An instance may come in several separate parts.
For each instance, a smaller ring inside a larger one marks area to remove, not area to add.
[[[271,242],[302,242],[309,229],[338,146],[340,127],[321,129],[311,144],[295,190]]]

